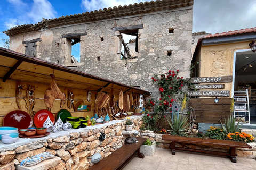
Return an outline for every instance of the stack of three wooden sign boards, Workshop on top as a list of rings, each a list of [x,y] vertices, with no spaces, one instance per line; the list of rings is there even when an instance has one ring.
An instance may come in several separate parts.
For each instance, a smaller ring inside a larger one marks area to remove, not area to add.
[[[202,77],[202,78],[191,78],[191,83],[224,83],[232,82],[232,76],[222,76],[222,77]],[[201,97],[229,97],[229,90],[213,91],[213,90],[199,90],[199,89],[223,89],[224,84],[195,84],[197,91],[189,91],[189,96],[201,96]]]

